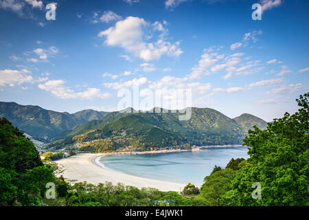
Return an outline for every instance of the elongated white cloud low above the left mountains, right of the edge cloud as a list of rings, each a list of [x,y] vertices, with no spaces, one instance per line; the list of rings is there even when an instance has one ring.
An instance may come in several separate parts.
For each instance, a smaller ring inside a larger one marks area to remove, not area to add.
[[[102,93],[100,89],[88,88],[82,92],[73,91],[69,87],[65,87],[63,80],[49,80],[44,84],[39,84],[38,88],[45,91],[50,91],[54,96],[62,99],[79,98],[79,99],[93,99],[93,98],[109,98],[111,94]]]

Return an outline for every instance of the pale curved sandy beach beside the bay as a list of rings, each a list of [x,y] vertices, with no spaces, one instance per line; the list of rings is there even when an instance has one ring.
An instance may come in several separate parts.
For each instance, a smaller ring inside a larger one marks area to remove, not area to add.
[[[170,190],[180,191],[185,187],[185,184],[148,179],[108,170],[94,162],[96,157],[102,155],[104,154],[83,153],[60,159],[56,163],[59,164],[63,171],[58,176],[62,175],[67,181],[72,183],[87,181],[90,184],[99,184],[105,181],[111,181],[113,184],[120,182],[127,186],[136,186],[137,188],[157,188],[164,192]]]

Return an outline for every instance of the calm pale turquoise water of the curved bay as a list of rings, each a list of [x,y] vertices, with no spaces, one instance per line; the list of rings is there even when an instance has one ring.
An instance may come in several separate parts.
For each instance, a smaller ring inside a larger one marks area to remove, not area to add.
[[[104,167],[139,177],[172,181],[181,184],[203,184],[205,176],[217,166],[226,166],[233,157],[245,158],[244,146],[207,148],[208,151],[144,155],[108,155],[100,158]]]

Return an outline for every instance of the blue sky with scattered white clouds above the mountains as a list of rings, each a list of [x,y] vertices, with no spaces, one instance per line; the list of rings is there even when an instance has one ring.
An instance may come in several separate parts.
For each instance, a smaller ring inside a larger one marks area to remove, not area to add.
[[[0,0],[0,100],[114,111],[121,89],[165,104],[190,89],[194,107],[271,121],[308,92],[308,12],[301,0]]]

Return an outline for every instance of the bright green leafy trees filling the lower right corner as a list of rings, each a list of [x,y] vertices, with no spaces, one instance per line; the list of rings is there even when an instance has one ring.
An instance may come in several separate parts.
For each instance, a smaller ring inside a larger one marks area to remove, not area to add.
[[[249,159],[231,159],[205,177],[201,196],[216,206],[309,206],[309,94],[297,100],[299,111],[254,126],[244,138]],[[254,183],[261,198],[253,198]]]

